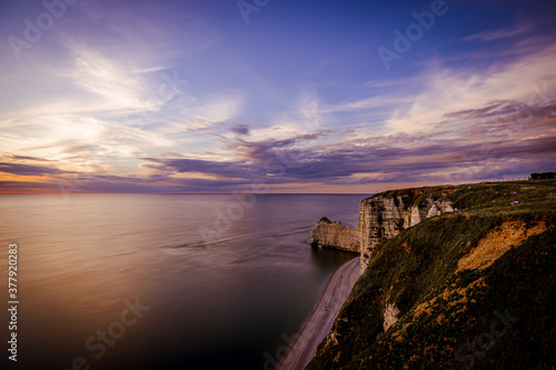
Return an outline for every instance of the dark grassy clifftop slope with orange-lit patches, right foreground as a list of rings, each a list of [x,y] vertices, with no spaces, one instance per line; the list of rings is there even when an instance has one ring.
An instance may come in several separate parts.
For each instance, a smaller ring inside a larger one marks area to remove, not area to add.
[[[460,211],[377,247],[308,369],[556,367],[556,181],[381,196],[447,189]]]

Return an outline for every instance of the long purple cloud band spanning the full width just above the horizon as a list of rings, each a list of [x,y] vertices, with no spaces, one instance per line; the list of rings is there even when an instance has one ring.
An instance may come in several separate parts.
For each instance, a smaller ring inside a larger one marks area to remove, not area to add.
[[[519,103],[494,102],[453,112],[446,114],[449,119],[443,130],[428,133],[369,136],[327,144],[319,143],[329,134],[326,132],[284,140],[236,138],[225,147],[227,156],[221,160],[176,158],[170,152],[141,158],[150,172],[140,176],[71,172],[13,162],[1,163],[0,172],[43,176],[33,189],[51,191],[61,187],[67,192],[230,192],[255,182],[277,190],[292,184],[455,183],[524,178],[540,160],[545,168],[556,167],[552,159],[556,158],[556,104],[533,110],[527,122],[512,107]],[[465,126],[459,123],[463,119]],[[41,162],[36,158],[11,160]],[[20,186],[27,187],[24,183]],[[14,191],[10,181],[0,186]]]

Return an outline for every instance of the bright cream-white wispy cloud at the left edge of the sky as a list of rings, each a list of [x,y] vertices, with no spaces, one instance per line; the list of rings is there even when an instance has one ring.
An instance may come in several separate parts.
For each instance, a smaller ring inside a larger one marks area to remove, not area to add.
[[[37,63],[33,73],[41,79],[21,79],[22,83],[36,82],[38,90],[48,86],[54,93],[24,99],[20,94],[26,107],[4,103],[1,152],[96,172],[109,171],[112,160],[133,160],[151,148],[175,146],[152,126],[167,101],[181,93],[171,73],[110,58],[110,52],[82,42],[63,41],[63,63]],[[52,88],[57,86],[59,90]]]

